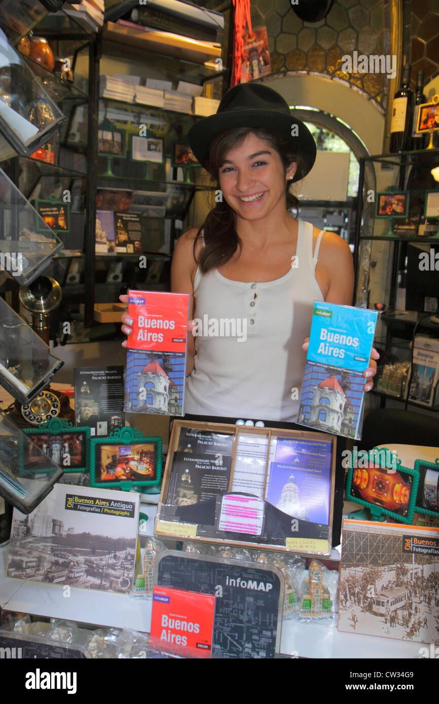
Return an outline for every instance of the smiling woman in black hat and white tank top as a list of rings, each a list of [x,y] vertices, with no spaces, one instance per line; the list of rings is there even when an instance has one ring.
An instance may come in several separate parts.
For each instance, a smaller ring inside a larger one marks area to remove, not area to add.
[[[171,290],[191,294],[191,318],[239,320],[246,337],[189,334],[187,413],[295,422],[313,303],[351,305],[354,288],[347,243],[287,210],[297,203],[290,184],[314,165],[314,139],[279,94],[242,84],[189,140],[223,200],[178,240]]]

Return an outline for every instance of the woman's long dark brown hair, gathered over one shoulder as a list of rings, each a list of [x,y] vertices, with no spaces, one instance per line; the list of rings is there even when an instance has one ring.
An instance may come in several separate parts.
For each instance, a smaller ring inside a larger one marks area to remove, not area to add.
[[[255,134],[256,137],[264,139],[273,149],[276,149],[283,163],[285,176],[287,168],[295,161],[297,162],[298,180],[303,177],[304,161],[280,134],[262,128],[236,127],[233,130],[221,132],[212,139],[209,145],[209,162],[206,164],[206,169],[217,182],[218,172],[224,163],[225,154],[235,146],[242,144],[247,134]],[[287,208],[297,208],[299,201],[296,196],[290,193],[289,182],[285,182],[285,197]],[[194,240],[195,258],[197,258],[195,256],[197,244],[203,239],[204,247],[199,251],[197,260],[203,274],[225,264],[233,257],[238,248],[241,249],[241,240],[236,232],[235,210],[226,201],[216,203],[199,228]]]

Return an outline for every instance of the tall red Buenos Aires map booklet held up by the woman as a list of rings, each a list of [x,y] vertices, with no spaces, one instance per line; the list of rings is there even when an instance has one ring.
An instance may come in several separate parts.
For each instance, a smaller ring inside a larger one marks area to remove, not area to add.
[[[189,294],[128,291],[128,413],[184,415],[189,301]]]

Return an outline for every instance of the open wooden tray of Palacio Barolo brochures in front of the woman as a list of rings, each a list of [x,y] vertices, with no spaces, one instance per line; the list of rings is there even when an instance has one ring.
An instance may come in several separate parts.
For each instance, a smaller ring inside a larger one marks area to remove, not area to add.
[[[335,436],[178,421],[159,537],[330,555]]]

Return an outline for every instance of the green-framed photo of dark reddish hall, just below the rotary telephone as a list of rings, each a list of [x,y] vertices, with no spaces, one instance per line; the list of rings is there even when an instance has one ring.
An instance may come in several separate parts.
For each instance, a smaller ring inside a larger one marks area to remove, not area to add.
[[[23,460],[28,467],[32,466],[32,462],[40,461],[37,446],[63,472],[89,471],[89,427],[74,426],[65,418],[51,418],[36,429],[23,428],[23,432],[34,443],[23,450]]]

